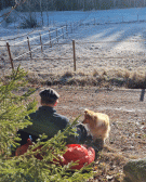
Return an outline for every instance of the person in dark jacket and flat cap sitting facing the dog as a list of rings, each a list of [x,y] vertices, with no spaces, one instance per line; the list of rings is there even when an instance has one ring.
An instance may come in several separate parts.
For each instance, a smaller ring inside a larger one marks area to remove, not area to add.
[[[31,136],[32,142],[39,138],[39,134],[47,134],[48,139],[53,138],[59,130],[63,131],[69,123],[67,117],[56,113],[54,106],[58,102],[59,94],[53,89],[45,89],[40,93],[41,106],[35,113],[29,115],[31,126],[18,130],[22,141],[21,145],[27,143],[27,139]],[[83,125],[77,125],[78,136],[68,136],[67,142],[80,143],[88,136],[88,132]]]

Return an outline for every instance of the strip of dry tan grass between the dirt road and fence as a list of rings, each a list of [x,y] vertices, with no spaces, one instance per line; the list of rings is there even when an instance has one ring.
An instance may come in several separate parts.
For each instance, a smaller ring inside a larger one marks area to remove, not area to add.
[[[66,72],[58,74],[28,73],[30,83],[39,84],[69,84],[69,86],[97,86],[124,87],[129,89],[146,89],[146,73],[128,69],[94,69],[92,73]]]

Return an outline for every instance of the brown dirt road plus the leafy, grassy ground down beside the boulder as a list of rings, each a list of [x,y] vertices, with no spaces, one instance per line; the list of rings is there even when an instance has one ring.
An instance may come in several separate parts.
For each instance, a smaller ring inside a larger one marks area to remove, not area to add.
[[[141,102],[142,90],[138,89],[52,88],[61,94],[57,113],[67,116],[70,121],[79,115],[79,121],[82,121],[84,108],[109,115],[109,139],[95,160],[95,177],[89,181],[122,181],[123,165],[129,159],[146,156],[146,95]],[[39,91],[35,93],[38,101]]]

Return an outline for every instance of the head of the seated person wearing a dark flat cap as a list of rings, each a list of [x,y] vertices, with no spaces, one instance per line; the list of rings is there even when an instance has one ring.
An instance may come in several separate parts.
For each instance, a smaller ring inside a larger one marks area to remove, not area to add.
[[[41,96],[41,105],[55,106],[58,102],[59,94],[51,88],[41,91],[39,94]]]

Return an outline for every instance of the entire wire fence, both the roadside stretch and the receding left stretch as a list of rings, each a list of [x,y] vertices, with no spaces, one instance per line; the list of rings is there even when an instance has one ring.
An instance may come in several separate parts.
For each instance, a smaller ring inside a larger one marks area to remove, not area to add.
[[[137,16],[137,21],[140,17]],[[110,21],[111,22],[111,21]],[[123,18],[122,18],[123,22]],[[120,53],[106,52],[106,48],[114,47],[116,43],[123,43],[123,40],[116,41],[69,41],[68,34],[77,30],[79,26],[87,25],[88,20],[82,20],[74,24],[66,24],[58,28],[47,28],[41,30],[32,30],[34,37],[29,31],[23,35],[23,40],[9,43],[5,42],[3,54],[1,56],[2,73],[6,69],[15,68],[19,64],[22,67],[31,72],[43,73],[61,73],[61,72],[94,72],[98,68],[125,68],[129,70],[146,69],[145,52],[124,52]],[[109,20],[108,20],[109,23]],[[91,25],[97,26],[97,20],[90,20]],[[145,42],[143,39],[124,40],[131,47],[133,43]],[[4,52],[5,51],[5,52]],[[5,57],[5,56],[3,56]]]

